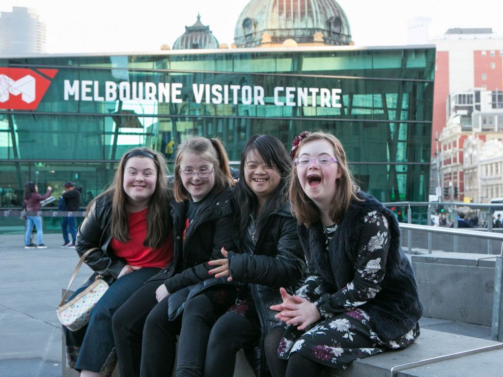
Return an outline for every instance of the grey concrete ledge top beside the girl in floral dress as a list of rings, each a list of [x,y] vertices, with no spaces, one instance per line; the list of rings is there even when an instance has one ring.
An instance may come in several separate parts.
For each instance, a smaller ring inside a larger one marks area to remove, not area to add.
[[[356,360],[347,369],[327,369],[325,377],[390,377],[396,365],[426,360],[490,345],[501,348],[459,358],[433,362],[396,372],[396,377],[500,377],[503,370],[503,343],[434,330],[421,330],[415,344],[399,351],[387,351]]]

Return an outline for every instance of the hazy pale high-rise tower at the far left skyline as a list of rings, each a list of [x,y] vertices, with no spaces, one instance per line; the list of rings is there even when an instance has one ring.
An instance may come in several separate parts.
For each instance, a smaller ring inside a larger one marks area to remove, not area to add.
[[[45,52],[45,23],[34,9],[13,7],[12,12],[0,12],[0,55]]]

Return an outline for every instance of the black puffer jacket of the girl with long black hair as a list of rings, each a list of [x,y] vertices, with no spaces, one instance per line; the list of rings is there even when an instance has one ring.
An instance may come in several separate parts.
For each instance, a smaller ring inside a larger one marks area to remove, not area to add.
[[[290,205],[272,213],[266,220],[255,249],[244,245],[243,235],[233,228],[237,252],[228,252],[229,272],[233,281],[248,283],[261,322],[260,343],[245,349],[248,362],[257,376],[266,375],[264,339],[278,320],[269,307],[282,302],[280,287],[294,292],[305,271],[304,253],[297,236],[297,220]]]

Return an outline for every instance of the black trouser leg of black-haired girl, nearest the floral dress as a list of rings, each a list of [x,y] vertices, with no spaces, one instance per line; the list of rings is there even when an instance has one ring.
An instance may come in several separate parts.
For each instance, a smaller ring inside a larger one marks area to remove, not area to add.
[[[237,351],[243,345],[255,343],[260,335],[260,329],[246,317],[234,312],[225,313],[211,329],[204,376],[232,377]]]

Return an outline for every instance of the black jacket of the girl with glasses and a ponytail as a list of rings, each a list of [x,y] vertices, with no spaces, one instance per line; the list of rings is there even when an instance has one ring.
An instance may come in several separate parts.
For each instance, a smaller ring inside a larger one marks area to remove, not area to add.
[[[222,246],[234,249],[232,240],[232,195],[233,190],[210,193],[201,203],[198,213],[185,234],[187,201],[171,202],[173,217],[173,261],[148,281],[164,280],[167,292],[170,319],[175,319],[182,311],[186,300],[207,286],[223,284],[225,278],[215,279],[208,271],[212,259],[221,259]],[[203,283],[203,288],[199,285]],[[196,287],[197,291],[195,290]]]

